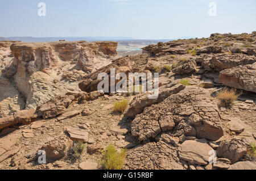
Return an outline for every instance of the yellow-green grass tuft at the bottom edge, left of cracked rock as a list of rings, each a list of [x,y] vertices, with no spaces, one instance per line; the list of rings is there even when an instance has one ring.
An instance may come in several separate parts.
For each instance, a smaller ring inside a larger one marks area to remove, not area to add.
[[[122,149],[120,153],[115,149],[114,145],[109,145],[105,151],[103,165],[107,170],[121,170],[126,158],[126,149]]]

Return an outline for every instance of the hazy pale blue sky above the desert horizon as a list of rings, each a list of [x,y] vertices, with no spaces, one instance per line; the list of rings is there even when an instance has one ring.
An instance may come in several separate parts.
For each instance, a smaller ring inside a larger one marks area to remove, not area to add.
[[[46,16],[38,16],[38,3]],[[217,16],[209,16],[210,2]],[[1,0],[0,36],[208,37],[256,31],[255,0]]]

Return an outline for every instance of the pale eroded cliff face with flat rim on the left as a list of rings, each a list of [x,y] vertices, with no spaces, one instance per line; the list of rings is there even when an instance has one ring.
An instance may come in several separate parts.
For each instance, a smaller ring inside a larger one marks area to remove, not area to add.
[[[116,49],[112,41],[0,42],[0,113],[36,108],[53,96],[80,92],[78,81],[109,65]]]

